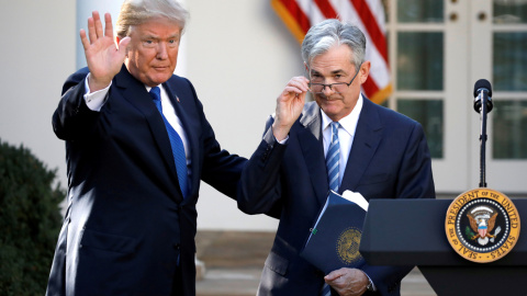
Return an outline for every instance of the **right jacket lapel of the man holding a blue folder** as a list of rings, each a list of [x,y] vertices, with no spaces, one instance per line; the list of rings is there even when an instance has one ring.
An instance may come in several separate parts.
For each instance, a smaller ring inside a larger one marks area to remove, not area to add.
[[[362,111],[346,163],[340,193],[345,190],[355,191],[381,143],[382,124],[375,107],[374,103],[363,96]]]

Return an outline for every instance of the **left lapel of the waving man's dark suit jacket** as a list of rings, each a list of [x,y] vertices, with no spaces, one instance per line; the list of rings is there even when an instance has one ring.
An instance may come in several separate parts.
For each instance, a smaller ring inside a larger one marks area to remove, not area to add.
[[[177,183],[178,175],[176,173],[176,163],[173,162],[170,139],[168,138],[165,122],[162,121],[156,105],[152,102],[152,98],[146,91],[145,86],[135,79],[125,66],[123,66],[121,72],[115,76],[115,86],[122,90],[124,100],[133,104],[145,116],[150,126],[157,148],[169,167],[172,180]]]

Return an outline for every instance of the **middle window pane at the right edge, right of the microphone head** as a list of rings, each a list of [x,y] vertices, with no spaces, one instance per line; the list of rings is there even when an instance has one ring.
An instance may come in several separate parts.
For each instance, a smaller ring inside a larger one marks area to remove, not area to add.
[[[493,90],[527,91],[527,33],[494,33]]]

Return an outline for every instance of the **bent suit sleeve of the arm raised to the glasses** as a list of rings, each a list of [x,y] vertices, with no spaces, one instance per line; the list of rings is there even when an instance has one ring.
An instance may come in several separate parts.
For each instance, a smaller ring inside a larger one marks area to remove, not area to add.
[[[279,218],[281,214],[280,164],[285,145],[279,144],[272,134],[273,118],[266,123],[266,133],[250,157],[238,185],[238,208],[247,214],[267,214]]]

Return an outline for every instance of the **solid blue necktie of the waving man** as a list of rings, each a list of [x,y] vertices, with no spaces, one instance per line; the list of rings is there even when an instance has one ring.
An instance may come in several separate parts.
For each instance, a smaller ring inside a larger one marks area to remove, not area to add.
[[[184,155],[184,146],[181,137],[179,137],[178,132],[173,129],[173,127],[168,123],[165,115],[162,115],[162,106],[161,106],[161,91],[158,87],[154,87],[150,89],[150,95],[154,100],[154,103],[159,110],[161,114],[162,121],[165,122],[165,127],[167,128],[168,138],[170,139],[170,146],[172,148],[172,156],[176,162],[176,171],[178,173],[178,181],[179,186],[181,187],[181,193],[183,194],[183,198],[187,197],[187,157]]]

